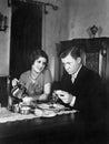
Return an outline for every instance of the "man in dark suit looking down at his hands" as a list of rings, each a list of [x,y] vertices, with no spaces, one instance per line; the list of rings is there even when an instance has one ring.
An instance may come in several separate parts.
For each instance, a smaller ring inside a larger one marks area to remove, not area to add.
[[[106,91],[99,74],[82,64],[80,51],[71,47],[60,54],[66,73],[54,93],[96,125],[105,120]]]

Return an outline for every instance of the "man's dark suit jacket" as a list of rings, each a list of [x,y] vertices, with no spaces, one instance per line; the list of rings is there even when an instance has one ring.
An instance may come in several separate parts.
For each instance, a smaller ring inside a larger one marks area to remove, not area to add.
[[[75,80],[71,75],[63,74],[61,90],[75,95],[75,109],[79,110],[90,122],[100,121],[105,116],[106,90],[98,73],[82,66]]]

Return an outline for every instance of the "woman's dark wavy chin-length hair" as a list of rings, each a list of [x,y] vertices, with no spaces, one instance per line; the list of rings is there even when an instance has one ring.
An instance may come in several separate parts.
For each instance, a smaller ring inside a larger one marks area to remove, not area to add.
[[[46,62],[46,68],[48,65],[49,59],[47,53],[43,50],[37,49],[31,53],[30,60],[31,60],[31,65],[34,63],[36,60],[38,60],[40,56],[44,58],[47,60]]]

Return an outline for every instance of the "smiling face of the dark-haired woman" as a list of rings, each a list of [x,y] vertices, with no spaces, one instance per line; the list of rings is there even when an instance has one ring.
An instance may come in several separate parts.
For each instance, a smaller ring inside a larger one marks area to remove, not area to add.
[[[32,70],[36,71],[37,73],[40,73],[46,68],[46,63],[47,63],[47,59],[43,56],[40,56],[32,64]]]

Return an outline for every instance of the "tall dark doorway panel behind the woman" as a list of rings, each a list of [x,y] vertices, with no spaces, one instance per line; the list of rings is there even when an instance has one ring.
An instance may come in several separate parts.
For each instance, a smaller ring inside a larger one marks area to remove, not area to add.
[[[41,49],[42,6],[27,2],[12,4],[10,76],[30,69],[30,53]]]

